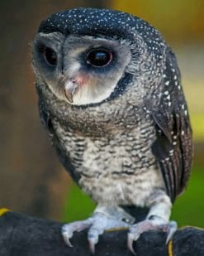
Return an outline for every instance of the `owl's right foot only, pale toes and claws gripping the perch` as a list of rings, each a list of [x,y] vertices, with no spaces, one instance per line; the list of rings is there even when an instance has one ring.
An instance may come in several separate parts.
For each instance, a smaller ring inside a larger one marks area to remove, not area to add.
[[[135,254],[133,249],[133,241],[136,241],[140,238],[140,234],[143,234],[146,231],[150,230],[162,230],[167,233],[166,244],[168,244],[169,240],[172,239],[173,234],[176,232],[178,226],[175,221],[170,221],[168,224],[161,224],[162,221],[158,221],[159,217],[152,216],[147,220],[141,221],[135,225],[130,227],[127,239],[127,247],[130,251]],[[135,254],[136,255],[136,254]]]

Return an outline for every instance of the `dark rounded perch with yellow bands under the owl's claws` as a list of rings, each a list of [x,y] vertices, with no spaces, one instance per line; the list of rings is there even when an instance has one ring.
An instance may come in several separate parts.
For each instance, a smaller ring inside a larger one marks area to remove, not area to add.
[[[1,210],[0,210],[1,211]],[[37,219],[7,211],[0,217],[0,255],[1,256],[65,256],[90,255],[87,232],[74,233],[71,239],[73,248],[64,244],[60,234],[63,224]],[[96,245],[96,255],[130,255],[126,247],[127,231],[114,231],[102,234]],[[137,255],[204,255],[204,230],[194,227],[179,229],[173,240],[165,245],[166,234],[150,231],[135,242]]]

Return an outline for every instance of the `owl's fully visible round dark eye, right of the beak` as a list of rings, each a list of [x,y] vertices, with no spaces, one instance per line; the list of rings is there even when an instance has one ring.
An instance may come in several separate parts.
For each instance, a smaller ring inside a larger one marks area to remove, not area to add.
[[[111,51],[104,49],[94,49],[88,52],[87,63],[96,67],[108,65],[111,62]]]

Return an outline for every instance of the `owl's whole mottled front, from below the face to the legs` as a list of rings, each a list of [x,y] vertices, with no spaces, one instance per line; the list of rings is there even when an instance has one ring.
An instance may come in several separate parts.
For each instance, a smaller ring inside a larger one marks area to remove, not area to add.
[[[164,190],[150,149],[154,128],[142,106],[116,99],[114,104],[85,108],[62,104],[59,108],[61,103],[50,89],[38,89],[40,115],[48,126],[47,115],[52,120],[50,138],[63,156],[61,161],[93,200],[103,205],[144,206],[155,189]]]

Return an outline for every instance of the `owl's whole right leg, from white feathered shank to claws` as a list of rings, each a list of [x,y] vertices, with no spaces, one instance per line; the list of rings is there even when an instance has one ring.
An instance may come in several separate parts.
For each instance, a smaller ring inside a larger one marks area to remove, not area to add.
[[[150,196],[147,206],[150,208],[146,219],[132,225],[128,233],[127,245],[130,251],[135,254],[133,241],[140,238],[140,234],[150,230],[162,230],[167,232],[166,244],[172,239],[177,230],[177,223],[169,221],[172,203],[164,191],[155,192]]]

